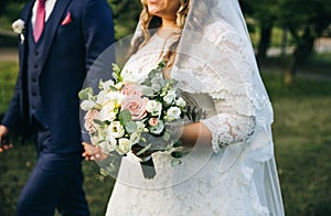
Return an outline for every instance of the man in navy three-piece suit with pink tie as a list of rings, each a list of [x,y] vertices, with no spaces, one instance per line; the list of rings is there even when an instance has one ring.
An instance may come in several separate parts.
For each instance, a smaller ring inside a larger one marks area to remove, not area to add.
[[[21,20],[20,71],[0,143],[19,126],[36,132],[38,161],[17,215],[54,215],[55,208],[89,215],[77,94],[94,61],[115,41],[111,11],[106,0],[32,0]]]

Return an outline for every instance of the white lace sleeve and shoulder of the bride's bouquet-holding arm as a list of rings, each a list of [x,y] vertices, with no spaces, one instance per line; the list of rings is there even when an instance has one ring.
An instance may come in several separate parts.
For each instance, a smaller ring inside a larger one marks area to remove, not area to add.
[[[260,121],[257,110],[268,107],[269,98],[256,90],[250,47],[233,28],[226,22],[213,23],[203,35],[206,37],[194,46],[183,44],[197,57],[181,55],[180,69],[173,76],[183,90],[213,99],[215,112],[202,122],[211,130],[217,152],[249,139]],[[214,48],[203,48],[211,46]]]

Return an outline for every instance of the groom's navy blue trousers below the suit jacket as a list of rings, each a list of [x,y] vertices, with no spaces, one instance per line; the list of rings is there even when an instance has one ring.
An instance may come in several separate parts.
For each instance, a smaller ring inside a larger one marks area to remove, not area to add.
[[[82,155],[47,151],[49,130],[38,132],[38,161],[21,192],[17,216],[89,215],[83,191]]]

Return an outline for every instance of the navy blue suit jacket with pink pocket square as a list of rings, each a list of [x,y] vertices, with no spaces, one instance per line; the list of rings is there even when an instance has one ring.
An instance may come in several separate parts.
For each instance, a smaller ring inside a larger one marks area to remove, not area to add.
[[[25,40],[33,3],[30,1],[21,15]],[[68,13],[71,22],[62,24]],[[38,67],[43,112],[52,134],[51,151],[82,151],[77,95],[94,61],[115,41],[111,12],[106,0],[57,0],[47,22]],[[26,41],[19,46],[19,76],[2,120],[9,129],[29,126]]]

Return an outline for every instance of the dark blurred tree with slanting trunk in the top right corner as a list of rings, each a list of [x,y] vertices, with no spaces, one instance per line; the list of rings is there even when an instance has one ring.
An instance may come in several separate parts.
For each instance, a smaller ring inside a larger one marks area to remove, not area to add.
[[[285,77],[286,84],[290,84],[297,73],[297,66],[312,54],[314,41],[331,24],[331,0],[278,1],[279,24],[289,30],[296,44],[290,67]]]

